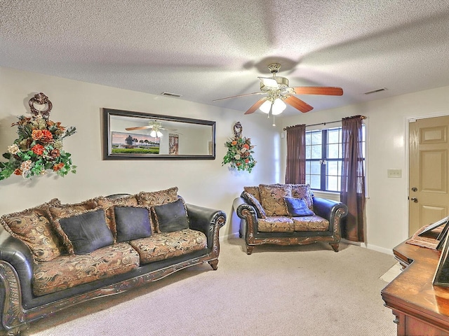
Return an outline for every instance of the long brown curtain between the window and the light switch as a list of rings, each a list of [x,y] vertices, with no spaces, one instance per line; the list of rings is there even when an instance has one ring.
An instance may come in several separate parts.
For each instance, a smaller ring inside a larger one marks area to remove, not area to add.
[[[365,169],[363,168],[362,117],[342,119],[342,188],[340,201],[349,213],[342,220],[342,237],[365,241]]]

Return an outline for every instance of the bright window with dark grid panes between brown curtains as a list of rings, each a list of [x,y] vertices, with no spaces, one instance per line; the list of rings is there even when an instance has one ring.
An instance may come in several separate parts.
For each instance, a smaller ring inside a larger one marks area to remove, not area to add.
[[[365,126],[362,128],[365,158]],[[306,183],[312,189],[340,192],[342,127],[306,131]]]

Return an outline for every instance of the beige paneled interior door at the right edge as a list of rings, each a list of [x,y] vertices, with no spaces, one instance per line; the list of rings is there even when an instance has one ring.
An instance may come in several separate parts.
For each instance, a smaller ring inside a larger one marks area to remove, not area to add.
[[[449,116],[410,122],[408,233],[448,216]]]

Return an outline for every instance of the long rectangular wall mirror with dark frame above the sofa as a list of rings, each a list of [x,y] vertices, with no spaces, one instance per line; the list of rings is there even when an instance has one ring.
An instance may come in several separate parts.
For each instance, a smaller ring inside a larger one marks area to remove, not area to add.
[[[215,160],[215,121],[102,109],[104,160]]]

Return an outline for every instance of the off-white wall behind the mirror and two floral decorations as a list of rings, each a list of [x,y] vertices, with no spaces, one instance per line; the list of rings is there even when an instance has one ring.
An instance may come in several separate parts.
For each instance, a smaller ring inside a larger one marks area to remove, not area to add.
[[[39,92],[46,94],[53,103],[51,120],[60,121],[66,127],[76,127],[77,133],[65,139],[64,149],[72,153],[77,173],[69,173],[64,178],[54,174],[32,179],[11,176],[0,181],[0,215],[34,207],[53,197],[58,197],[63,203],[73,203],[98,195],[138,193],[177,186],[186,202],[227,213],[227,225],[220,231],[224,237],[239,230],[239,223],[231,216],[231,211],[232,201],[240,195],[243,186],[279,182],[280,133],[258,113],[243,116],[243,112],[177,98],[0,67],[1,154],[17,139],[17,127],[10,127],[11,123],[17,121],[17,116],[29,113],[28,101]],[[217,158],[104,161],[100,132],[102,107],[215,120]],[[221,165],[226,153],[225,141],[232,137],[232,126],[237,121],[243,125],[243,136],[250,137],[257,145],[254,154],[257,165],[250,174],[234,172]]]

